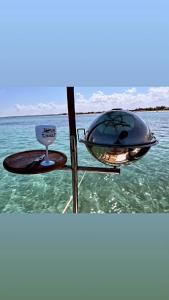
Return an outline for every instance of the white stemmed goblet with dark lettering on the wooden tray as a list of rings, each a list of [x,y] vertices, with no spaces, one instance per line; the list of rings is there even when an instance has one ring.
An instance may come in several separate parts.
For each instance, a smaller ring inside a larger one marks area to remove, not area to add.
[[[49,160],[48,146],[53,144],[56,139],[56,126],[54,125],[38,125],[35,127],[36,138],[39,143],[46,146],[46,156],[40,164],[44,167],[55,164],[53,160]]]

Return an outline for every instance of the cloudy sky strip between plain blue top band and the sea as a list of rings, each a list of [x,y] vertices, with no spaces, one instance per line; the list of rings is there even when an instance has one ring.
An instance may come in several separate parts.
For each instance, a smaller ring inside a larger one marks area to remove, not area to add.
[[[169,107],[168,87],[75,87],[76,112]],[[67,112],[65,87],[0,88],[0,117]]]

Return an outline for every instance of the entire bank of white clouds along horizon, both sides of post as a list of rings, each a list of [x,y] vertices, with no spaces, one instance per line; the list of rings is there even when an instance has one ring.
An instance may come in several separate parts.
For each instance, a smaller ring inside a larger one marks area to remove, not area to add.
[[[136,107],[155,107],[159,105],[169,106],[169,87],[150,87],[146,92],[138,92],[136,88],[128,88],[122,92],[106,94],[104,89],[85,97],[81,93],[75,95],[76,111],[105,111],[112,108],[134,109]],[[15,109],[10,111],[10,115],[45,115],[67,112],[66,99],[65,104],[55,102],[37,104],[16,104]],[[2,115],[2,114],[1,114]],[[5,115],[5,113],[4,113]],[[9,115],[6,114],[6,115]]]

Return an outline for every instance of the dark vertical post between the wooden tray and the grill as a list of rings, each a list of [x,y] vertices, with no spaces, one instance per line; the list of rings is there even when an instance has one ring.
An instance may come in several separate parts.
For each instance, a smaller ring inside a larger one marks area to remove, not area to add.
[[[69,116],[70,154],[72,168],[73,213],[76,214],[78,212],[78,161],[74,87],[67,87],[67,105]]]

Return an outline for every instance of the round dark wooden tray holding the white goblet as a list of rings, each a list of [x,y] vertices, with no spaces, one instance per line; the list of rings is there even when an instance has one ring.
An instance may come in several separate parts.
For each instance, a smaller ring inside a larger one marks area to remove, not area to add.
[[[40,174],[57,169],[62,169],[67,162],[67,157],[59,151],[49,150],[49,159],[55,161],[55,164],[49,167],[40,165],[35,161],[45,154],[45,150],[30,150],[15,153],[5,158],[3,161],[4,168],[12,173],[18,174]]]

